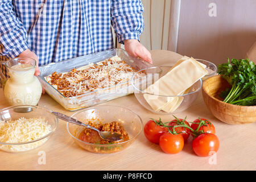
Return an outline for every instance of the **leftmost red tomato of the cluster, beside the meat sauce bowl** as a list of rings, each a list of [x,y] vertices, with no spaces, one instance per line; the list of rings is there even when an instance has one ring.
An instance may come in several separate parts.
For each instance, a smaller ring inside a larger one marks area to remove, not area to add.
[[[144,135],[152,143],[158,144],[160,136],[166,131],[167,129],[165,127],[156,125],[153,120],[148,121],[144,126]]]

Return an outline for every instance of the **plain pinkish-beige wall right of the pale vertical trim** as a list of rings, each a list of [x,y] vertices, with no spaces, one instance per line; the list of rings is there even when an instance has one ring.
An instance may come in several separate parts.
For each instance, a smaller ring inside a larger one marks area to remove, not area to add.
[[[219,64],[245,58],[255,41],[256,0],[181,0],[177,53]]]

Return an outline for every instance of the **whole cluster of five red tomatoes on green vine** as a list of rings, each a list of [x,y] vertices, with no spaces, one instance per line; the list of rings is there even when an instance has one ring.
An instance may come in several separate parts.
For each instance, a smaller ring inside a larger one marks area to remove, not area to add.
[[[174,116],[175,117],[175,116]],[[176,118],[163,123],[161,119],[151,119],[144,126],[144,135],[150,142],[159,144],[167,154],[177,154],[183,150],[184,142],[192,134],[192,148],[196,155],[209,156],[218,151],[220,141],[215,135],[215,127],[208,119],[196,119],[191,126],[185,119]]]

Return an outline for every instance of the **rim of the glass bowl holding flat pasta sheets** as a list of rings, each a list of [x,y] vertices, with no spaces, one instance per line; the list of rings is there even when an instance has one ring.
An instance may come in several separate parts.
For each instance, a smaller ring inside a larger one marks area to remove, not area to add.
[[[162,69],[161,69],[162,67],[169,67],[169,68],[171,68],[172,66],[155,66],[155,67],[140,69],[139,71],[135,72],[135,73],[133,74],[133,76],[131,77],[131,85],[133,85],[133,88],[134,88],[135,90],[139,91],[140,94],[150,94],[150,95],[152,95],[152,96],[159,96],[159,97],[183,97],[183,96],[188,96],[188,95],[190,95],[190,94],[194,94],[194,93],[200,92],[200,90],[201,90],[201,88],[202,88],[202,86],[203,86],[202,78],[200,78],[199,80],[196,81],[196,82],[200,81],[200,86],[199,86],[199,88],[197,88],[197,90],[195,90],[195,91],[193,91],[193,92],[189,92],[189,93],[187,93],[187,94],[178,95],[178,96],[162,96],[162,95],[158,95],[158,94],[152,94],[152,93],[144,92],[143,90],[138,89],[137,86],[134,85],[134,81],[133,81],[133,80],[134,80],[134,77],[135,77],[135,75],[137,75],[139,72],[144,71],[144,70],[146,70],[146,69],[152,69],[152,68],[159,68],[159,69],[162,71]],[[196,84],[196,82],[195,82],[194,84]],[[194,84],[193,84],[193,85],[194,85]],[[136,93],[134,93],[134,94],[136,94]]]

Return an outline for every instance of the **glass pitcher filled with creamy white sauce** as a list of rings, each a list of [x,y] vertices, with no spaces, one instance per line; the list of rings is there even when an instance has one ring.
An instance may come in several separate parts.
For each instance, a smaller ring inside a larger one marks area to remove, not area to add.
[[[0,71],[3,92],[11,106],[37,105],[42,94],[42,86],[36,76],[36,60],[29,57],[18,57],[0,61],[7,69],[9,78]]]

